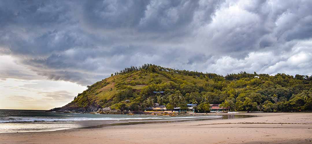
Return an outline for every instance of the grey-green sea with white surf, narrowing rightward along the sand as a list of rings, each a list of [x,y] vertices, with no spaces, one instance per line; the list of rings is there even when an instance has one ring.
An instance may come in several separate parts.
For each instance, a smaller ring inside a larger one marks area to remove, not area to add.
[[[0,133],[42,132],[72,128],[99,128],[110,125],[165,123],[188,120],[241,118],[242,115],[125,115],[45,112],[45,110],[0,109]]]

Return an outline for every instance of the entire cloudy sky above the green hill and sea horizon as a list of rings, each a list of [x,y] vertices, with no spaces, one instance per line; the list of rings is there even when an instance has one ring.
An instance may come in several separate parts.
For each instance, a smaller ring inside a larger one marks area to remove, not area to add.
[[[0,1],[0,109],[63,106],[152,63],[312,75],[311,0]]]

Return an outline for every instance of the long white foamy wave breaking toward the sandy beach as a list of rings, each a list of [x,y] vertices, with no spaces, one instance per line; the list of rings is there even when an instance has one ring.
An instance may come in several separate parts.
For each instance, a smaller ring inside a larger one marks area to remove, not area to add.
[[[144,118],[87,118],[87,117],[80,117],[80,118],[35,118],[35,117],[16,117],[16,118],[1,118],[0,123],[23,123],[23,122],[59,122],[59,121],[83,121],[83,120],[153,120],[153,119],[190,119],[190,118],[199,118],[199,119],[210,119],[210,118],[221,118],[222,116],[187,116],[187,117],[169,117],[169,116],[158,116],[158,117],[144,117]]]

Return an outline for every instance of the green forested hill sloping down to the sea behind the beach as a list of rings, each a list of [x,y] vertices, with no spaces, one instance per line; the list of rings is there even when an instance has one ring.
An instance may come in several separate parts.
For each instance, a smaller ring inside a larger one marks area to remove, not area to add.
[[[167,108],[199,104],[197,109],[202,112],[207,104],[222,104],[235,111],[312,110],[312,76],[256,72],[222,76],[144,64],[87,86],[71,103],[53,110],[90,112],[110,107],[135,111],[153,103]]]

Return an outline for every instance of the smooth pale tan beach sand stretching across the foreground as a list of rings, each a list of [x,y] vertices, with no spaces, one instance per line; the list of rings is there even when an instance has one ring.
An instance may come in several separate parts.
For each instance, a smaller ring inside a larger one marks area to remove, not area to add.
[[[310,143],[312,113],[251,113],[257,117],[0,133],[0,143],[213,144]]]

